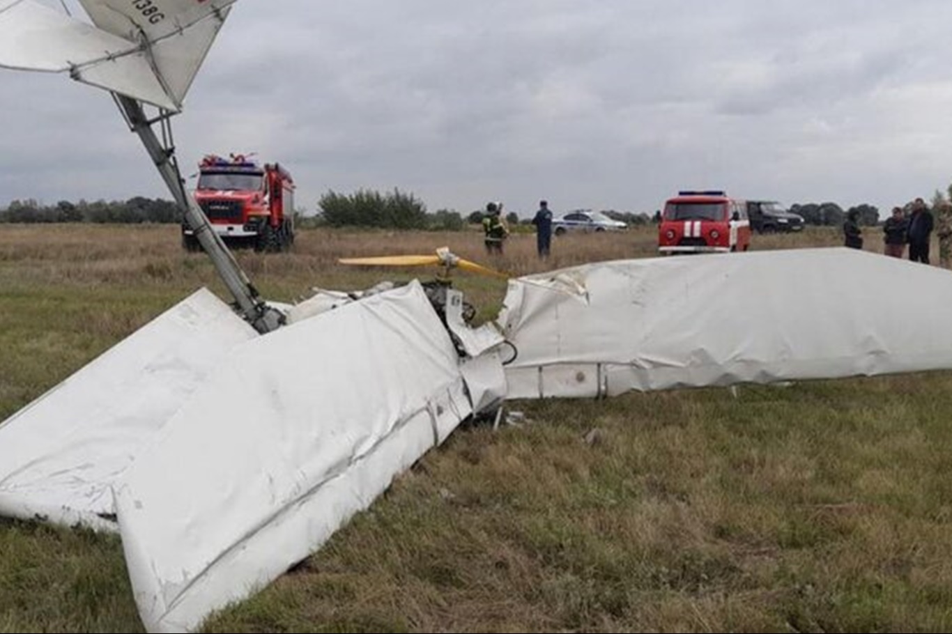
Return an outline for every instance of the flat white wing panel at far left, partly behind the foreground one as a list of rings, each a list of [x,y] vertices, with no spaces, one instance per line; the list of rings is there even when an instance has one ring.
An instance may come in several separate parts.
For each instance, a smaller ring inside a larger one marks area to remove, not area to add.
[[[0,515],[118,530],[111,485],[228,351],[257,337],[202,288],[0,424]]]

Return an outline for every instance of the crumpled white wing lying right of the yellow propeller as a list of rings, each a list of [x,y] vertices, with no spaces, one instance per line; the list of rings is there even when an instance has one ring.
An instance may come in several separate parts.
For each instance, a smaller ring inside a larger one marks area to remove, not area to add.
[[[567,268],[504,304],[509,398],[952,367],[952,273],[847,248]]]

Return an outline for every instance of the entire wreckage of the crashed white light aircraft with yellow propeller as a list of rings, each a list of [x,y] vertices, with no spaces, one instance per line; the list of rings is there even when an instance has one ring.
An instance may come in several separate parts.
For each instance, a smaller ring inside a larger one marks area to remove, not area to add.
[[[170,142],[234,0],[79,2],[91,24],[0,0],[0,66],[114,95],[234,303],[199,289],[0,425],[0,515],[118,532],[151,632],[261,589],[506,399],[952,367],[952,275],[844,248],[528,275],[478,328],[443,283],[268,304]],[[391,263],[480,268],[446,250]]]

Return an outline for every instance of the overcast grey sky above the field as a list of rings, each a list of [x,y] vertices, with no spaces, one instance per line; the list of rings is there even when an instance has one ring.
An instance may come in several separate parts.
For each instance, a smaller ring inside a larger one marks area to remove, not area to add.
[[[189,172],[277,160],[307,211],[328,189],[526,216],[725,188],[884,217],[952,182],[950,30],[947,0],[239,0],[177,149]],[[107,93],[0,70],[0,109],[0,207],[169,197]]]

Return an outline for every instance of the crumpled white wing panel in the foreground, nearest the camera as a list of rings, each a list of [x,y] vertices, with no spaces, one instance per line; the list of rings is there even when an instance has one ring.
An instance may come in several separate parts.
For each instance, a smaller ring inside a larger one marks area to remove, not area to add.
[[[188,631],[268,584],[471,411],[416,282],[237,347],[116,489],[147,630]]]

